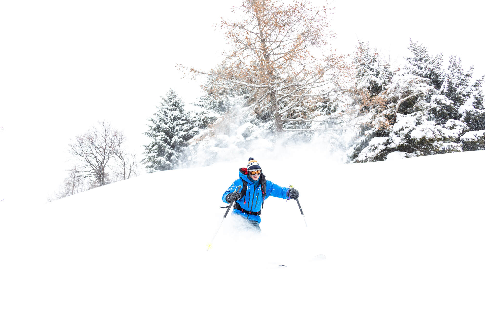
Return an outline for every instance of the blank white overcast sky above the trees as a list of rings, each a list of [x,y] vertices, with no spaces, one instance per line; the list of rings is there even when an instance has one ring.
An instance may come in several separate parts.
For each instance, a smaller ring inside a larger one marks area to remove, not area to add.
[[[198,83],[181,79],[175,65],[216,65],[225,40],[213,25],[239,3],[3,1],[0,200],[45,201],[65,178],[70,139],[98,120],[124,130],[141,155],[160,96],[173,87],[189,105],[200,95]],[[334,44],[344,53],[361,39],[402,61],[412,38],[431,53],[474,64],[476,77],[485,74],[482,3],[335,0],[332,6]]]

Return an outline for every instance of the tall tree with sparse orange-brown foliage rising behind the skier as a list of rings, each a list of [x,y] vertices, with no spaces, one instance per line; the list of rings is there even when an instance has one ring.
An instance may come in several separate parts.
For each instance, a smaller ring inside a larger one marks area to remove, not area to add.
[[[284,113],[291,117],[295,108],[311,107],[317,99],[339,91],[350,76],[345,57],[324,50],[333,37],[326,10],[308,1],[284,5],[274,0],[243,0],[233,10],[244,15],[242,20],[223,19],[220,25],[233,50],[210,72],[190,70],[245,88],[246,103],[269,111],[276,132],[281,132]]]

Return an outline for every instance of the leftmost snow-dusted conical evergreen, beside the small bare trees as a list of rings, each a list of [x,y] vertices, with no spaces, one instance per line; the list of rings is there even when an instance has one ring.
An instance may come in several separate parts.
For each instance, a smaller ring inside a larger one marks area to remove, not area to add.
[[[144,145],[146,157],[142,162],[150,173],[180,166],[185,160],[183,148],[198,130],[173,89],[161,98],[157,112],[149,119],[149,130],[144,132],[151,142]]]

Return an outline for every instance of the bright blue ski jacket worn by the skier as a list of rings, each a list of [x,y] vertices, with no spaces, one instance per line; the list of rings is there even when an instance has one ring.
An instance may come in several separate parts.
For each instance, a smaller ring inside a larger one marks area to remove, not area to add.
[[[242,186],[242,179],[247,182],[246,194],[242,196],[239,200],[235,203],[238,203],[241,206],[241,209],[249,211],[249,212],[259,212],[261,210],[263,201],[268,198],[269,196],[275,196],[279,198],[289,199],[288,197],[288,190],[287,187],[281,187],[276,185],[270,180],[266,180],[264,175],[261,173],[259,176],[259,180],[254,182],[247,172],[247,168],[240,168],[239,169],[239,178],[236,179],[231,186],[222,194],[222,200],[224,203],[226,201],[226,196],[236,191],[236,187],[241,185]],[[262,192],[261,184],[266,181],[266,192]],[[242,215],[246,219],[261,222],[261,217],[256,214],[248,214],[244,213],[241,210],[233,209],[233,212]]]

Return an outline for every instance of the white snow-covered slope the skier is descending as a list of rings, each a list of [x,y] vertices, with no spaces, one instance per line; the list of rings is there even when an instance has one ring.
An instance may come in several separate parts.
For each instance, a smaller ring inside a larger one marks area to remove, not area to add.
[[[260,162],[300,191],[308,227],[272,197],[259,237],[228,217],[209,251],[243,161],[1,202],[0,322],[485,321],[485,151],[295,157]]]

